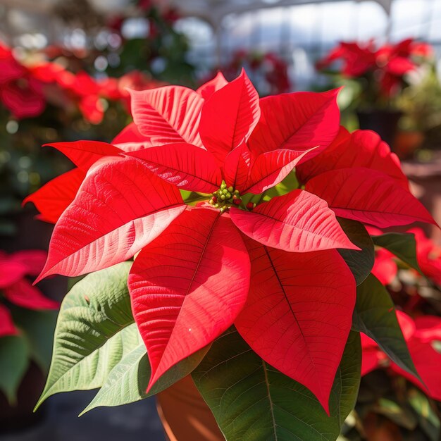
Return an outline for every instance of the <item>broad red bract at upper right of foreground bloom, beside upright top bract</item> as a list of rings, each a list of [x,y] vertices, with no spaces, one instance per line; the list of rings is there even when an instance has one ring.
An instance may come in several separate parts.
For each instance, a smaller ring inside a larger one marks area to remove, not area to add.
[[[251,153],[258,156],[271,150],[318,147],[308,155],[316,156],[333,141],[340,127],[337,92],[294,92],[262,98],[261,120],[249,139]]]

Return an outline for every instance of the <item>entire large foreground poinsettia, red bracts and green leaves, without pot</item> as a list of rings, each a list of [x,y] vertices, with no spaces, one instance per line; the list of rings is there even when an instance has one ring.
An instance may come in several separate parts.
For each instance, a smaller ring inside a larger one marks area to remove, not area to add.
[[[54,144],[77,169],[29,199],[55,222],[37,280],[90,274],[40,402],[101,387],[86,410],[115,406],[191,373],[228,440],[335,440],[360,333],[420,379],[364,224],[435,221],[378,135],[340,128],[337,92],[259,99],[219,74],[132,91],[111,144]]]

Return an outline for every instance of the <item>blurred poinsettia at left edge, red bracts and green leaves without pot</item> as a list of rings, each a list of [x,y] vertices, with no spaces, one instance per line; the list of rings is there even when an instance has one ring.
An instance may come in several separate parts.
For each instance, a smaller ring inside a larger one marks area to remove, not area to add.
[[[44,372],[49,368],[46,342],[55,324],[50,311],[59,304],[29,280],[42,271],[45,260],[46,252],[37,249],[0,251],[0,391],[11,404],[30,361]]]

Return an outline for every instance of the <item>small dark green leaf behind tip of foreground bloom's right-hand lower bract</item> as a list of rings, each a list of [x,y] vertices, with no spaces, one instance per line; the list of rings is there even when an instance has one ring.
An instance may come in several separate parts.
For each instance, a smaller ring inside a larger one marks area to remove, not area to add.
[[[350,219],[337,218],[342,229],[346,233],[349,240],[361,248],[361,251],[354,249],[339,249],[340,256],[346,261],[347,266],[354,274],[357,285],[360,285],[363,280],[368,277],[373,268],[375,260],[375,249],[371,236],[369,236],[364,225],[357,221]]]

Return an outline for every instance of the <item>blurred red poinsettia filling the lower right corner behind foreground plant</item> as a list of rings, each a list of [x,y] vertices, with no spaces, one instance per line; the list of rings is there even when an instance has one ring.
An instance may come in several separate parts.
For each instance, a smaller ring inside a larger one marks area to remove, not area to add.
[[[362,433],[368,439],[381,435],[387,441],[437,441],[441,433],[440,247],[421,228],[383,233],[368,227],[368,232],[376,245],[375,263],[364,284],[371,293],[394,299],[421,380],[397,366],[371,338],[361,335],[360,392],[355,411],[343,428],[344,436],[359,440]]]

